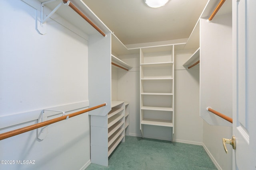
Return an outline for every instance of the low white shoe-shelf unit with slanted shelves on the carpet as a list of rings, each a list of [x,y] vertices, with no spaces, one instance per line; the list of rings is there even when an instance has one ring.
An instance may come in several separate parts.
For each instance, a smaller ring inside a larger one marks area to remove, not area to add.
[[[108,166],[108,156],[125,141],[128,103],[112,101],[106,116],[91,115],[91,162]]]

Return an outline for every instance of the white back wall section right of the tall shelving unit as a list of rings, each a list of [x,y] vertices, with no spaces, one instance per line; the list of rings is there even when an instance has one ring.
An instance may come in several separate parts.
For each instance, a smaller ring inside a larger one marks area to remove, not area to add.
[[[203,121],[199,115],[199,69],[182,66],[193,51],[177,51],[174,67],[174,141],[202,145]]]

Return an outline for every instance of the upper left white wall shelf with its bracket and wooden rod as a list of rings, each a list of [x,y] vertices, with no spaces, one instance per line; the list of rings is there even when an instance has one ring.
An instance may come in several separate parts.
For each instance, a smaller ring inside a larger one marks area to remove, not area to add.
[[[25,1],[28,4],[32,3],[30,2],[31,0],[23,0],[23,1]],[[39,1],[42,2],[42,0],[39,0]],[[46,10],[44,10],[44,8],[46,8],[46,4],[47,4],[47,9],[50,10],[50,13],[48,12],[47,14],[45,12]],[[72,9],[72,10],[69,10],[66,6],[69,6],[70,7],[69,9]],[[105,32],[110,31],[106,27],[106,25],[104,25],[104,23],[102,23],[102,21],[100,21],[95,16],[95,14],[92,13],[92,11],[86,6],[86,4],[84,4],[84,2],[79,0],[72,0],[72,2],[70,2],[69,0],[61,0],[61,1],[48,0],[41,3],[40,11],[39,9],[37,10],[37,15],[40,16],[38,17],[38,21],[37,21],[37,29],[41,34],[46,34],[46,21],[49,18],[52,18],[52,19],[56,18],[56,16],[54,17],[54,13],[60,15],[65,20],[70,21],[70,23],[72,23],[73,25],[78,25],[78,27],[81,28],[83,31],[86,31],[86,33],[88,29],[89,34],[92,34],[91,29],[94,29],[98,31],[102,36],[105,37],[106,34],[104,33],[104,31]],[[81,19],[82,21],[84,20],[87,21],[87,23],[86,24],[81,23],[82,22],[80,21]],[[84,27],[84,25],[86,25],[86,27]],[[104,30],[102,31],[102,29],[100,29],[99,26]]]

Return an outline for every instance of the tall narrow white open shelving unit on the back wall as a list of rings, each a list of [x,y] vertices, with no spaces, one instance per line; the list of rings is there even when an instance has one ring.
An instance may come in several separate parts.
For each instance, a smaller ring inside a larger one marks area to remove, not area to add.
[[[140,130],[170,127],[174,133],[174,46],[140,49]]]

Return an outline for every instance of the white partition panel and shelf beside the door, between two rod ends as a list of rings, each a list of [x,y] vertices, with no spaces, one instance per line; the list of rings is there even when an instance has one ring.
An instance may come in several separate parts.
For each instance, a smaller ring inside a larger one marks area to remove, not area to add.
[[[200,18],[200,116],[210,125],[232,127],[206,109],[232,117],[232,1],[227,0],[208,22],[216,5],[209,1]]]

